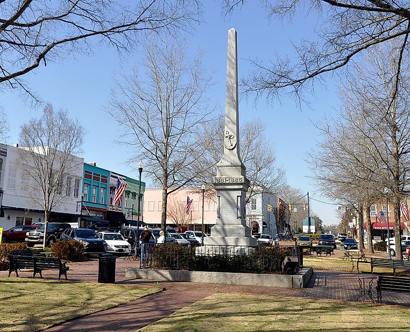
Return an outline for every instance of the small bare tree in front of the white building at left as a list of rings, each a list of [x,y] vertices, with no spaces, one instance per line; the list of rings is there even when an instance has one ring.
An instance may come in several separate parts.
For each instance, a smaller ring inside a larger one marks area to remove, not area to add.
[[[66,111],[54,111],[50,104],[40,119],[21,126],[18,166],[31,189],[31,199],[44,210],[44,247],[50,212],[65,197],[64,177],[81,167],[75,154],[81,151],[83,136],[77,119],[68,118]]]

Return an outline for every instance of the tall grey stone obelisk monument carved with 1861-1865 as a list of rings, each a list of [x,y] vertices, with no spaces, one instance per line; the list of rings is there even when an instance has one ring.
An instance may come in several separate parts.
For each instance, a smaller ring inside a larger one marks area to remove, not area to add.
[[[256,246],[246,226],[246,192],[249,180],[239,153],[238,62],[236,30],[228,32],[227,94],[225,104],[224,152],[216,164],[212,183],[218,199],[216,225],[206,245]]]

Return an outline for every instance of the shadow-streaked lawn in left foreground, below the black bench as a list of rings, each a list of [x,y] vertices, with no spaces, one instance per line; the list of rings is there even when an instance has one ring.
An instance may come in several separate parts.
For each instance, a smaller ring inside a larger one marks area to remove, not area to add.
[[[41,331],[158,291],[92,282],[0,278],[0,331]]]

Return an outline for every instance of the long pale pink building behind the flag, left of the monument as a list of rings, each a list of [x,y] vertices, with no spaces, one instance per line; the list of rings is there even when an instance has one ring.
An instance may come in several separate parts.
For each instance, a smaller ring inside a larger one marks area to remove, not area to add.
[[[192,212],[189,215],[185,214],[187,197],[193,199]],[[216,223],[216,196],[215,194],[205,193],[204,196],[204,232],[210,233],[211,227]],[[161,210],[162,210],[162,189],[161,188],[146,188],[144,193],[144,222],[150,227],[161,226]],[[198,188],[180,189],[168,196],[168,211],[177,211],[184,218],[187,229],[200,231],[202,227],[202,193]],[[170,227],[177,228],[172,220],[172,217],[167,216],[166,224]]]

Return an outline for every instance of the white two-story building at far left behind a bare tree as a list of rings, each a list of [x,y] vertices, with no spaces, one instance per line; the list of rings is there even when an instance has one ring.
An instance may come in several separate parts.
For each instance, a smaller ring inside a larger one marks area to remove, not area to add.
[[[44,222],[44,210],[37,203],[42,189],[20,168],[19,151],[21,148],[0,144],[0,227],[4,230]],[[64,174],[58,184],[61,190],[50,213],[51,222],[78,224],[79,221],[84,160],[72,156],[71,161],[78,167],[70,167],[72,174]]]

